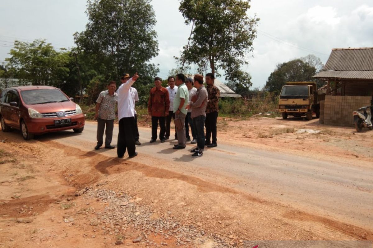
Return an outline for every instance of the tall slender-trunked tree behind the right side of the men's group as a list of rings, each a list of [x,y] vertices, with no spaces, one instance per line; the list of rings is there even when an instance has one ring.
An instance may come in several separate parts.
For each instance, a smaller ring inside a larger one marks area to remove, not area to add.
[[[198,65],[203,73],[210,67],[217,74],[223,70],[225,80],[251,86],[250,75],[241,70],[245,55],[253,50],[259,19],[247,15],[250,1],[181,0],[179,11],[186,24],[194,23],[190,46],[184,47],[180,64]]]

